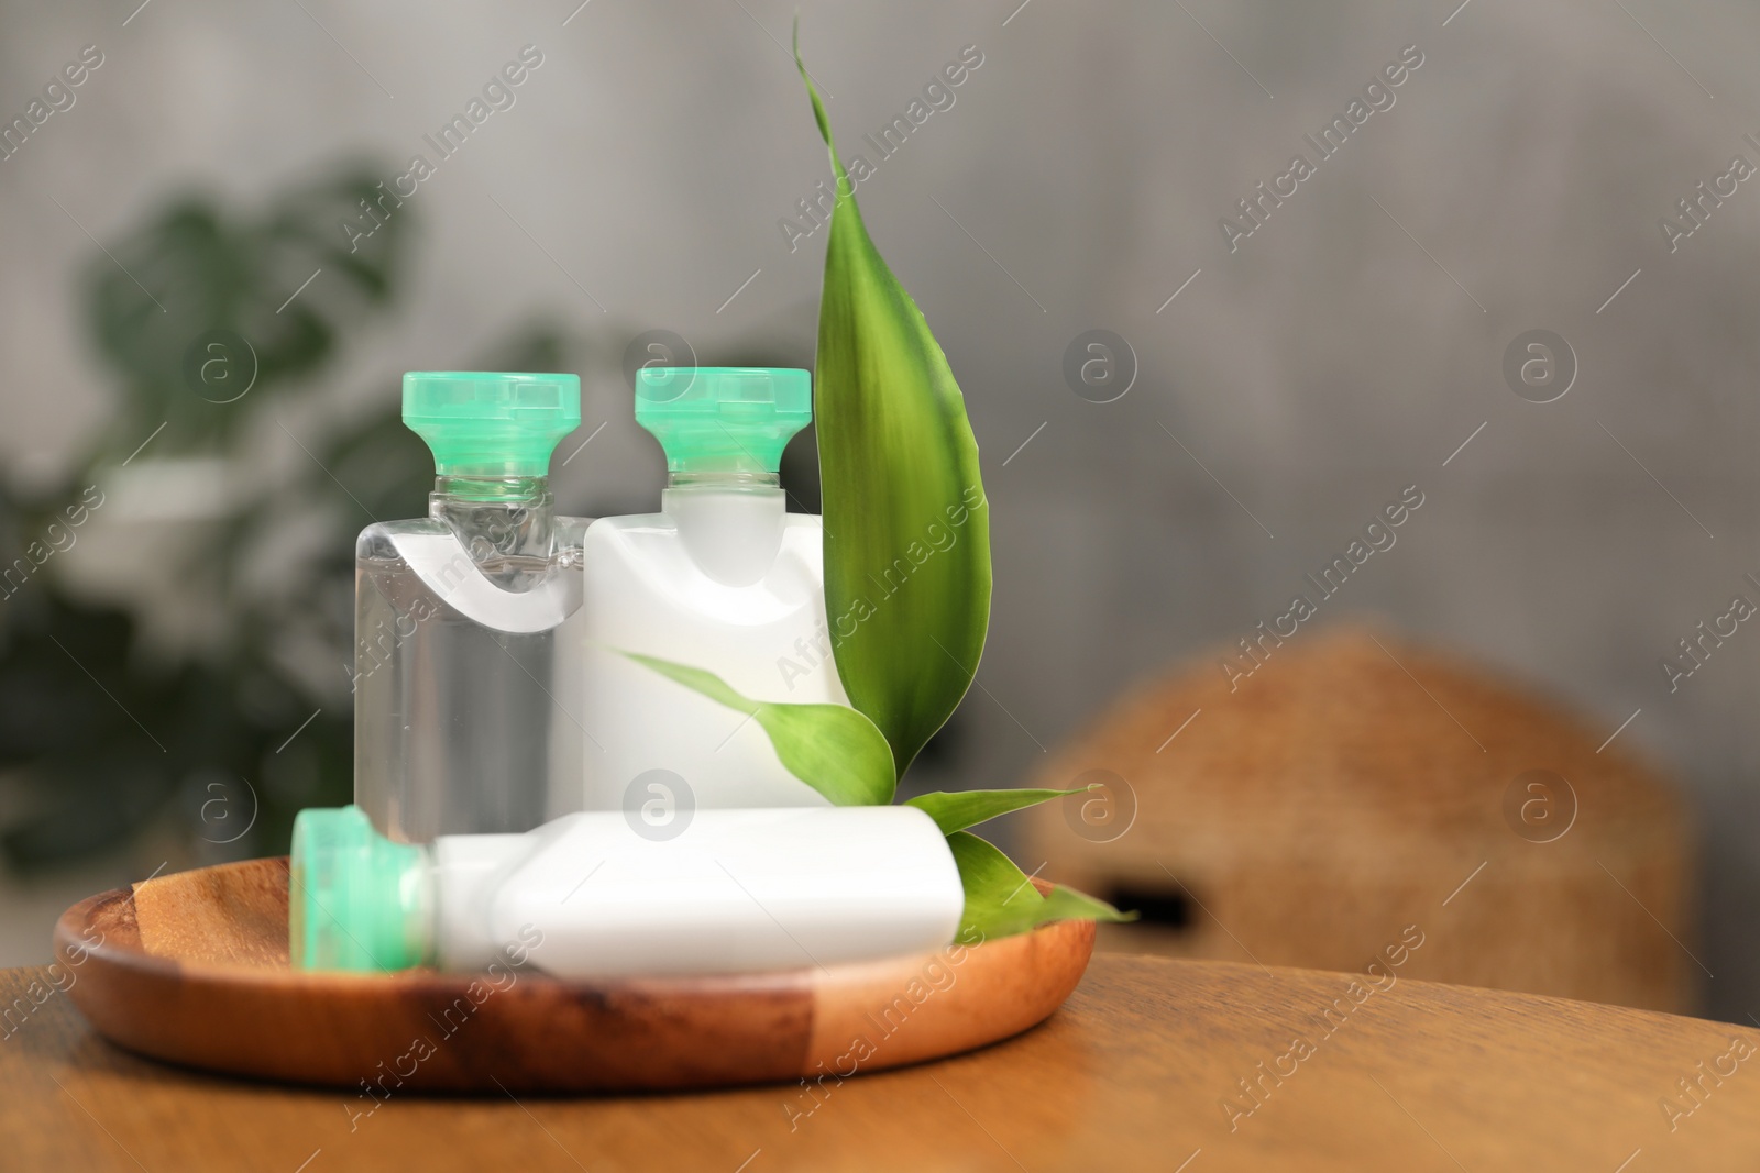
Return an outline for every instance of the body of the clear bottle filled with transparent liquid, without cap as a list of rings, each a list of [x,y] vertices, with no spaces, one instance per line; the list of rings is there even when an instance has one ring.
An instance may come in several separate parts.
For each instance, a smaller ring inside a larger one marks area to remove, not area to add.
[[[459,542],[442,519],[361,535],[356,802],[382,834],[524,832],[579,809],[586,524],[551,519],[544,554]]]

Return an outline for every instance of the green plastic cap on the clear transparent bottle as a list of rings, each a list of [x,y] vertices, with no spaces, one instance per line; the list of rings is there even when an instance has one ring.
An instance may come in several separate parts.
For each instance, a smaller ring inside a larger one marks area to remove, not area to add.
[[[556,441],[581,426],[581,378],[410,371],[403,422],[442,477],[544,477]]]

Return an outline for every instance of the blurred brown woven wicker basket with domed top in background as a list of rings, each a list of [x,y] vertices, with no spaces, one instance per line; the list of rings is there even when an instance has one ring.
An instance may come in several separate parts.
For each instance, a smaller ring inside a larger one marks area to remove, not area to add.
[[[1144,911],[1100,950],[1362,969],[1419,925],[1412,976],[1695,1008],[1688,827],[1630,735],[1362,626],[1255,651],[1128,693],[1031,781],[1109,783],[1019,816],[1016,856]]]

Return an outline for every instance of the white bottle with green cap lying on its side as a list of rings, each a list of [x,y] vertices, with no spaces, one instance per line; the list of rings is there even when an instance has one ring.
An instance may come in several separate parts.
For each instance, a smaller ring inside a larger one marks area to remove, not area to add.
[[[906,805],[697,811],[665,832],[591,811],[431,846],[378,835],[359,807],[294,820],[296,969],[801,969],[929,953],[963,911],[947,839]]]

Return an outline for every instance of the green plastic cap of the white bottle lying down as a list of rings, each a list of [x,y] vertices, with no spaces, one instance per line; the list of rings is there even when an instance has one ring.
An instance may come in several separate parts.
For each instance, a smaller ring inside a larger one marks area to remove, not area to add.
[[[287,892],[294,969],[380,973],[429,955],[428,851],[392,842],[361,807],[294,818]]]

